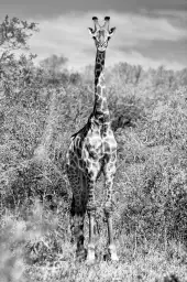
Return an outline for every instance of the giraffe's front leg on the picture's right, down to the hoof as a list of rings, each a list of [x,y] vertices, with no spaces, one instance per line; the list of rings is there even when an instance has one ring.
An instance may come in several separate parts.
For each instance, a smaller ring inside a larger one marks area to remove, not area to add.
[[[112,227],[112,186],[116,173],[116,165],[113,163],[107,163],[105,167],[105,184],[107,189],[107,200],[105,205],[105,215],[108,226],[108,251],[112,261],[119,261],[117,254],[117,248],[113,240],[113,227]]]

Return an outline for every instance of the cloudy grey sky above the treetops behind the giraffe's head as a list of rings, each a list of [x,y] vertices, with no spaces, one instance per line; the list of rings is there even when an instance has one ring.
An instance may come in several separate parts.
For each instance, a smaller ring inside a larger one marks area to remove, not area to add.
[[[36,62],[56,54],[67,57],[72,69],[94,65],[96,47],[87,28],[94,28],[94,15],[101,24],[109,15],[117,30],[107,66],[187,67],[187,0],[0,0],[0,21],[6,14],[38,23],[29,42]]]

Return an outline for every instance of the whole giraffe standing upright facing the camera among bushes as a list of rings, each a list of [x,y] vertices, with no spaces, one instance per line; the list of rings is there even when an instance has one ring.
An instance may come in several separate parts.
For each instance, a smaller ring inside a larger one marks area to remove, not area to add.
[[[112,230],[112,185],[116,174],[117,141],[110,124],[110,113],[107,104],[105,84],[105,57],[108,42],[116,28],[109,29],[110,17],[105,18],[101,26],[98,18],[92,18],[95,29],[88,28],[95,41],[95,105],[87,123],[72,135],[70,145],[66,154],[66,170],[73,191],[72,229],[77,239],[76,254],[87,262],[95,261],[94,224],[96,213],[95,187],[101,173],[105,176],[106,203],[105,215],[108,225],[108,252],[112,261],[118,261]],[[89,218],[89,241],[86,254],[84,248],[84,218]]]

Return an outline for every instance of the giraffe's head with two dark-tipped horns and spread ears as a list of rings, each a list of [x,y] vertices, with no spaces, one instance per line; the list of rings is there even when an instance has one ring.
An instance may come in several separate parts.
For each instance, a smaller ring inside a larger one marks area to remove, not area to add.
[[[98,51],[103,52],[107,50],[108,42],[114,33],[116,28],[109,29],[110,17],[105,18],[105,24],[100,26],[98,18],[92,18],[95,23],[95,29],[88,28],[91,37],[95,41]]]

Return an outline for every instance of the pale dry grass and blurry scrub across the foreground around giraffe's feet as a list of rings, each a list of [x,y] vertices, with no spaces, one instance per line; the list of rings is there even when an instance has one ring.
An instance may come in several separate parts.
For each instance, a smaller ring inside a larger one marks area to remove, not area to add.
[[[62,240],[58,236],[57,221],[52,224],[50,217],[42,220],[43,216],[43,208],[36,203],[28,220],[10,214],[3,218],[0,281],[187,281],[187,253],[180,242],[160,245],[144,240],[139,245],[135,236],[120,235],[117,239],[120,262],[105,261],[100,256],[88,267],[76,262],[75,246],[68,237]],[[103,232],[97,245],[105,248]],[[172,274],[177,280],[168,280]]]

